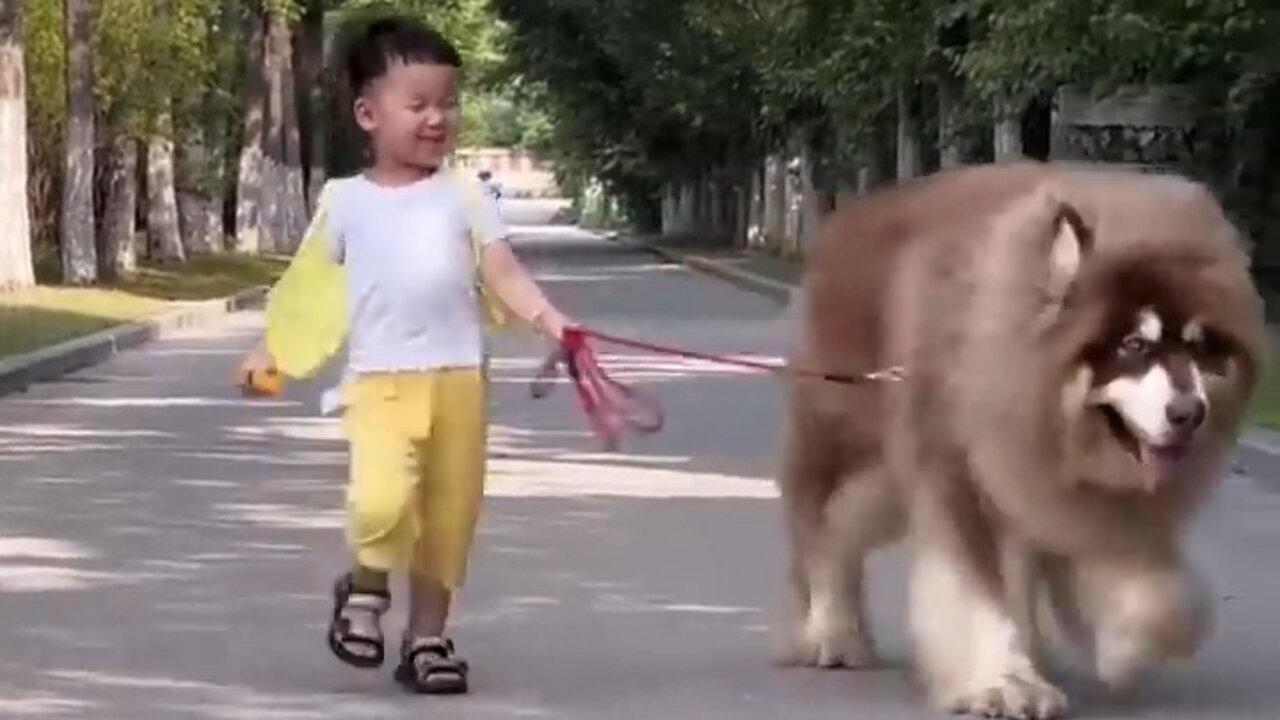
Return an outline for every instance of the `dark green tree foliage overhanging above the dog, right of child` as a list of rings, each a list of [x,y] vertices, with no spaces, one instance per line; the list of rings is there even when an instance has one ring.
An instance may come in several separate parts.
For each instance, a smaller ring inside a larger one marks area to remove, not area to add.
[[[956,122],[974,127],[1062,85],[1221,95],[1277,42],[1267,0],[494,5],[509,63],[548,90],[557,158],[650,195],[658,178],[750,165],[796,132],[859,158],[904,94],[928,100],[943,83],[960,88]]]

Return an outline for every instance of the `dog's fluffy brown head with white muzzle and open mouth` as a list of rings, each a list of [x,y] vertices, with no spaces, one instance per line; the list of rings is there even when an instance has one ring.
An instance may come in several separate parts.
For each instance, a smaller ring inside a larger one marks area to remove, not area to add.
[[[1050,252],[1050,336],[1076,479],[1147,492],[1203,480],[1203,460],[1234,441],[1261,364],[1252,283],[1215,242],[1106,241],[1066,208]]]

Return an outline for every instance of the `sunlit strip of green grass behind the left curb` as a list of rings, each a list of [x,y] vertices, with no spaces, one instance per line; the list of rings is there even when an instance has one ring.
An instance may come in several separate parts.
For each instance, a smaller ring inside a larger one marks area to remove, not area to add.
[[[140,320],[172,301],[212,300],[271,284],[287,264],[284,258],[207,256],[182,265],[146,265],[102,287],[46,284],[0,293],[0,357]]]

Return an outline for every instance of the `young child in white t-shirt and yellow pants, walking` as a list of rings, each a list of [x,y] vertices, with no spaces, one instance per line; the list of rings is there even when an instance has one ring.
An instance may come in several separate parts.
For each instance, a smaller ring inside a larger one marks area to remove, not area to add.
[[[372,161],[362,174],[326,184],[303,241],[314,245],[311,236],[323,233],[325,261],[340,265],[333,277],[346,287],[340,398],[355,566],[334,587],[329,646],[351,665],[380,666],[388,574],[407,570],[410,621],[396,679],[424,693],[467,691],[468,666],[445,635],[445,621],[466,574],[484,488],[476,265],[481,288],[518,319],[554,341],[566,327],[506,242],[492,197],[443,167],[458,129],[460,67],[445,38],[410,19],[372,22],[352,41],[346,72]],[[300,249],[293,264],[306,263],[306,252]],[[287,281],[293,282],[289,273],[273,295]],[[312,310],[308,300],[294,305],[300,313]],[[302,332],[280,327],[298,323],[271,318],[269,305],[269,340],[273,332]],[[333,324],[310,316],[301,324],[312,320]],[[284,343],[276,345],[283,352]],[[264,342],[242,370],[273,372],[282,357],[270,350]]]

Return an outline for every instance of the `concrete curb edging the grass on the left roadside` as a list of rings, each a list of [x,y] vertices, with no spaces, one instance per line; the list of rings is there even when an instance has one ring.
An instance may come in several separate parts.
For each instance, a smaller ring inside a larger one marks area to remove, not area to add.
[[[175,304],[173,310],[154,318],[0,359],[0,397],[23,392],[32,384],[49,382],[96,365],[120,351],[137,347],[174,331],[200,327],[229,313],[256,305],[266,299],[268,290],[266,286],[261,286],[230,297]]]

